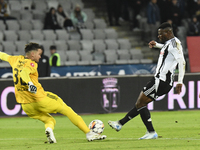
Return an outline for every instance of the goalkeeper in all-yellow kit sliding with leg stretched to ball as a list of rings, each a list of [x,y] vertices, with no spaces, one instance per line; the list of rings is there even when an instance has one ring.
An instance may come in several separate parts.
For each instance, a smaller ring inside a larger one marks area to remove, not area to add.
[[[0,59],[10,63],[13,71],[16,101],[30,118],[45,124],[45,133],[49,143],[56,143],[53,129],[56,121],[49,113],[61,113],[86,134],[88,141],[105,139],[105,135],[96,134],[87,127],[83,119],[76,114],[56,94],[44,91],[38,82],[38,62],[42,50],[39,44],[25,46],[25,56],[11,56],[0,52]]]

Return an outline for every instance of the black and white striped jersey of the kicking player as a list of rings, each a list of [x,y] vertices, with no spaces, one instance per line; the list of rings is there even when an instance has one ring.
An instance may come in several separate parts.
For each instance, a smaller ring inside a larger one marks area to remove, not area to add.
[[[155,47],[161,48],[155,77],[172,85],[174,70],[178,64],[178,83],[182,84],[185,74],[185,59],[180,40],[174,37],[165,44],[156,43]]]

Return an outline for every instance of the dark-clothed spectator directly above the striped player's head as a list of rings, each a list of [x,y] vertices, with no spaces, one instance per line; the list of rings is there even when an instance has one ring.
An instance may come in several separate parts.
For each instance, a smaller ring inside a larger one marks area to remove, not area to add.
[[[173,21],[173,24],[176,26],[181,25],[182,15],[181,10],[178,7],[178,0],[172,0],[171,5],[168,7],[169,17]]]

